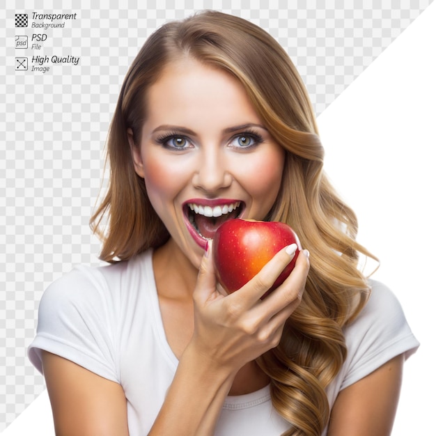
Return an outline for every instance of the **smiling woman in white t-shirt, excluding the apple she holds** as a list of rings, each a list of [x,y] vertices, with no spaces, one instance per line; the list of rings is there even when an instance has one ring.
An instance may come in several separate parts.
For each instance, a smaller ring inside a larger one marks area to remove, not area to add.
[[[419,344],[357,269],[373,256],[272,37],[217,12],[164,25],[127,73],[108,156],[91,224],[111,265],[47,289],[29,349],[56,433],[389,435]],[[225,295],[210,239],[235,217],[286,222],[306,247],[263,300],[296,247]]]

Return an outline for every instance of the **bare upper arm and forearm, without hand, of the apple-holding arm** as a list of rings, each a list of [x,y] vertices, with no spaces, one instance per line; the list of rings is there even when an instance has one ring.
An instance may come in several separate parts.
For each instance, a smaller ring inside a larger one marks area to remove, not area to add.
[[[42,351],[42,368],[56,436],[129,435],[126,398],[120,384],[47,351]],[[178,428],[173,434],[208,435],[201,428],[215,427],[231,387],[231,378],[220,374],[208,367],[207,359],[198,359],[187,350],[159,414],[163,417],[160,430]],[[199,433],[192,433],[194,428]]]

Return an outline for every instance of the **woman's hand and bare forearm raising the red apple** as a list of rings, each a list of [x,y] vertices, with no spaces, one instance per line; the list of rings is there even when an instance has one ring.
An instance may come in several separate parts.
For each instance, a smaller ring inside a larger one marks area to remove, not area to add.
[[[294,252],[293,247],[282,249],[249,283],[225,295],[215,277],[209,246],[194,290],[194,334],[180,357],[150,436],[173,435],[176,430],[183,435],[215,433],[236,373],[279,344],[283,325],[302,299],[309,272],[307,251],[299,254],[281,286],[260,300]]]

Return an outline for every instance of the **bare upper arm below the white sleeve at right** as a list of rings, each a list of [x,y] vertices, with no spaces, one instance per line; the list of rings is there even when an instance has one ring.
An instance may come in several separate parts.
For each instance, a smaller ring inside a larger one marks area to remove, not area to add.
[[[339,392],[328,436],[389,436],[400,397],[404,356],[387,361]]]

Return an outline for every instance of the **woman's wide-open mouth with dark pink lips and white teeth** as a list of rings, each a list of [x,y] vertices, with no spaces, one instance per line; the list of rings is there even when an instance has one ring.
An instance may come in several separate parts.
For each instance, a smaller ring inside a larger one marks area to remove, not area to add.
[[[185,216],[190,226],[194,228],[197,235],[206,240],[214,237],[217,228],[224,221],[239,218],[243,210],[243,201],[229,201],[219,205],[189,202],[184,205]]]

